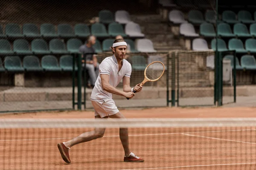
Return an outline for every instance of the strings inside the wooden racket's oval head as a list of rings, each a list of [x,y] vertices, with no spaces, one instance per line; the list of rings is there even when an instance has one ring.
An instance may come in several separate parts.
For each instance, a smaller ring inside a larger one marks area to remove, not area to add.
[[[163,74],[164,66],[161,62],[154,62],[146,69],[146,77],[150,80],[156,80]]]

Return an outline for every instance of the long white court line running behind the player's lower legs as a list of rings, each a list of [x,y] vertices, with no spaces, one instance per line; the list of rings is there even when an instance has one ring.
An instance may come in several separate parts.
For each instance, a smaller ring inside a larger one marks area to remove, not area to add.
[[[245,131],[245,130],[256,130],[256,129],[239,129],[239,130],[212,130],[212,131],[199,131],[199,132],[185,132],[185,133],[214,133],[214,132],[232,132],[232,131]],[[157,136],[157,135],[175,135],[175,134],[182,134],[180,132],[177,133],[152,133],[152,134],[137,134],[137,135],[129,135],[129,136]],[[119,137],[119,135],[112,135],[112,136],[103,136],[103,137]],[[36,140],[56,140],[56,139],[70,139],[73,137],[66,137],[66,138],[42,138],[42,139],[6,139],[0,140],[0,142],[11,142],[11,141],[36,141]]]

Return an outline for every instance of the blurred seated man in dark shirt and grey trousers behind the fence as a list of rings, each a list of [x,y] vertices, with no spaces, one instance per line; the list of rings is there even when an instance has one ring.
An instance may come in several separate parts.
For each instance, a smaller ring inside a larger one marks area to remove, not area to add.
[[[96,82],[96,79],[99,75],[99,63],[95,54],[86,54],[86,53],[95,53],[95,49],[93,45],[96,43],[96,37],[90,35],[87,38],[86,44],[81,45],[79,48],[80,53],[84,53],[82,55],[82,66],[88,71],[90,86],[93,88]],[[89,81],[88,81],[89,82]],[[88,87],[90,87],[88,85]]]

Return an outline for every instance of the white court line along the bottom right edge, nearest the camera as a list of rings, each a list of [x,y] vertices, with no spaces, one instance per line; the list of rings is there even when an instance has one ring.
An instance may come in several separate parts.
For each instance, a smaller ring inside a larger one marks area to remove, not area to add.
[[[256,164],[256,162],[252,162],[252,163],[234,163],[234,164],[187,165],[187,166],[178,166],[178,167],[153,167],[153,168],[120,169],[120,170],[157,170],[157,169],[169,169],[169,168],[179,168],[179,167],[209,167],[209,166],[240,165],[240,164]]]

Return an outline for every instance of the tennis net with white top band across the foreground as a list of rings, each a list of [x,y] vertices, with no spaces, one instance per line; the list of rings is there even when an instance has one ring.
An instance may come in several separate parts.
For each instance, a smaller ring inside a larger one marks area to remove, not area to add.
[[[57,144],[95,127],[65,163]],[[144,162],[123,161],[119,127]],[[1,170],[255,170],[256,119],[0,119],[0,151]]]

